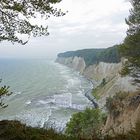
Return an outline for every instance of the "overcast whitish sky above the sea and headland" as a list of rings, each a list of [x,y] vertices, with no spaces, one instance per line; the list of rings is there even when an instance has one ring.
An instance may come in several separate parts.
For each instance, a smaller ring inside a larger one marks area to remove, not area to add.
[[[126,36],[127,0],[62,0],[56,6],[68,13],[34,21],[48,25],[49,36],[31,37],[24,46],[1,42],[0,58],[55,59],[60,52],[111,47]]]

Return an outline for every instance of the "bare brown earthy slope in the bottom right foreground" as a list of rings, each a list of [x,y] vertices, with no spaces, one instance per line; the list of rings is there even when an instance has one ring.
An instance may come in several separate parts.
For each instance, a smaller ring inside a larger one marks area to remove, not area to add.
[[[103,133],[114,135],[133,130],[140,121],[140,92],[129,93],[129,96],[120,101],[113,111],[115,110],[117,114],[109,113]]]

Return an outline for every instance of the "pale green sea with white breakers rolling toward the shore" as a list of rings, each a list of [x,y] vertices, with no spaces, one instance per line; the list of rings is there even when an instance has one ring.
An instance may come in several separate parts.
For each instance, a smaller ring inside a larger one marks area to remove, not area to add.
[[[79,73],[48,60],[0,60],[1,85],[13,94],[4,100],[0,120],[63,129],[75,112],[92,106],[84,93],[92,85]]]

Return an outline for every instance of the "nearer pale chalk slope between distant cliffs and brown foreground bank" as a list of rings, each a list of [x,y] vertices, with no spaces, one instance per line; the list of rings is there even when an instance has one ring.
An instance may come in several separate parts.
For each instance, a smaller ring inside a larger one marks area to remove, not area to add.
[[[100,97],[98,100],[99,107],[105,108],[106,98],[113,97],[116,93],[137,91],[137,86],[132,85],[132,81],[131,77],[121,77],[119,74],[107,81],[103,87],[96,91],[96,94]]]

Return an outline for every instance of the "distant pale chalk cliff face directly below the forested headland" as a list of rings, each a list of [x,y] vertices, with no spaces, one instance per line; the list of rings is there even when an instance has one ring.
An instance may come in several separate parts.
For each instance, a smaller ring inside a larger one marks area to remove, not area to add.
[[[118,74],[121,68],[121,63],[104,63],[93,64],[86,67],[82,57],[58,57],[56,62],[73,68],[83,74],[85,77],[100,82],[103,78],[112,79]]]

